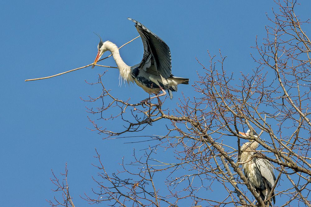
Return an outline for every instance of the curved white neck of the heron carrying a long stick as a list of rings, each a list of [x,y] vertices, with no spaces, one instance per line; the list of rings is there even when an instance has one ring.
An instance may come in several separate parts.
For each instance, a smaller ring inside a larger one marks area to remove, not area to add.
[[[127,82],[133,82],[133,78],[131,75],[130,66],[128,66],[121,58],[119,53],[119,48],[112,42],[107,41],[107,49],[111,52],[118,69],[120,71],[120,76]]]

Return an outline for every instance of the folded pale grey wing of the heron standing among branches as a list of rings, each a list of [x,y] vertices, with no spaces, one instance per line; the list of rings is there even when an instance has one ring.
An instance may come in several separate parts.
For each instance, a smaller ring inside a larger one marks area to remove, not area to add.
[[[259,159],[256,159],[255,164],[260,170],[262,177],[266,178],[270,188],[272,188],[272,186],[274,186],[276,178],[273,173],[273,166],[271,162],[266,159],[259,158]]]

